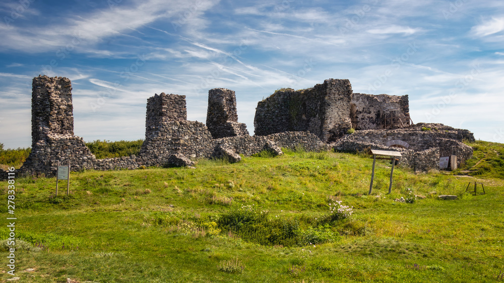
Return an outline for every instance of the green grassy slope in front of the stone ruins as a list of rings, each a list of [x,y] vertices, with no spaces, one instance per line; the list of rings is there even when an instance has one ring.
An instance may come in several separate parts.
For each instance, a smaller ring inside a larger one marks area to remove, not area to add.
[[[284,153],[234,164],[201,160],[196,169],[72,173],[69,197],[54,196],[54,178],[17,178],[16,235],[42,250],[16,250],[16,275],[26,282],[501,280],[499,172],[475,178],[398,166],[387,195],[390,164],[377,160],[368,196],[368,157]],[[482,180],[487,194],[465,194],[470,180]],[[7,203],[7,182],[0,185]],[[427,198],[394,201],[409,192]],[[440,194],[459,200],[439,201]],[[331,217],[335,201],[353,214]],[[254,212],[237,213],[242,206]],[[8,215],[7,206],[0,212]],[[7,235],[0,227],[0,240]]]

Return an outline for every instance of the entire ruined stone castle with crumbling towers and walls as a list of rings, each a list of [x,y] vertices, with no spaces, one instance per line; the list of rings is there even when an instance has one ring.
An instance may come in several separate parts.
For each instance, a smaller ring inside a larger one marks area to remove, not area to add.
[[[18,170],[23,174],[54,175],[58,161],[70,161],[72,171],[192,166],[198,158],[215,157],[237,162],[240,154],[262,150],[282,154],[281,147],[299,145],[311,151],[398,150],[404,165],[420,171],[438,168],[441,156],[457,155],[460,164],[472,155],[472,148],[462,143],[474,140],[471,132],[442,124],[412,124],[407,95],[353,93],[348,79],[327,79],[304,90],[278,90],[259,102],[254,136],[237,121],[232,90],[209,91],[207,125],[187,121],[185,96],[156,94],[147,100],[139,155],[96,159],[74,135],[70,80],[38,76],[32,87],[32,151]],[[357,131],[348,134],[351,128]]]

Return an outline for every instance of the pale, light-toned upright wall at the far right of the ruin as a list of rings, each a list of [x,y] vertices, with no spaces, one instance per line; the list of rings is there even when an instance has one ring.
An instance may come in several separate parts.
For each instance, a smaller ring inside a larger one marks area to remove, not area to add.
[[[390,113],[409,116],[408,95],[366,95],[353,93],[350,117],[356,130],[381,130],[385,128],[385,117]],[[409,125],[410,121],[404,121]]]

